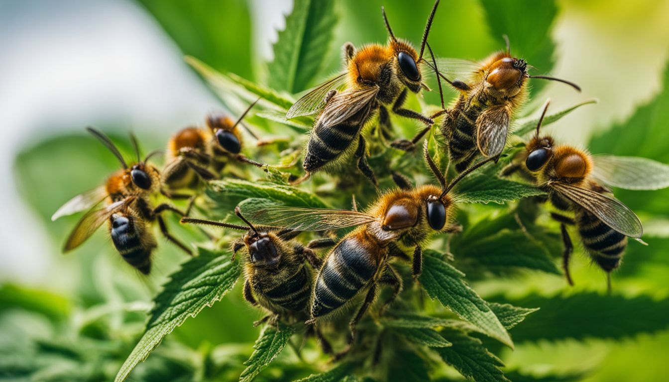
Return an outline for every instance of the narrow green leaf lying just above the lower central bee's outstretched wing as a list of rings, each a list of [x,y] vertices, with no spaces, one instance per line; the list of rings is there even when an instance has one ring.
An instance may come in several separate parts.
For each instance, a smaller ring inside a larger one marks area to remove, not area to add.
[[[207,195],[214,201],[227,197],[262,198],[279,201],[296,207],[328,208],[316,195],[289,185],[278,185],[264,181],[223,179],[209,182]]]

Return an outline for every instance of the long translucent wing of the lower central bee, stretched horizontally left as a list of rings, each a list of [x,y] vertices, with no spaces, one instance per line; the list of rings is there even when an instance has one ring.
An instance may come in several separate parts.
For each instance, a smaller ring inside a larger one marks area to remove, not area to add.
[[[282,227],[296,231],[324,231],[353,227],[374,221],[375,218],[366,213],[345,209],[320,209],[306,207],[261,207],[255,209],[248,206],[244,215],[252,223],[269,227]]]

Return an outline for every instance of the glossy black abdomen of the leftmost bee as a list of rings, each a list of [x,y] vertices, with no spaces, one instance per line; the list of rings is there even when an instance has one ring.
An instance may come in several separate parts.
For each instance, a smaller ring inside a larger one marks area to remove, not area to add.
[[[153,246],[142,245],[142,237],[130,216],[114,215],[111,218],[112,242],[118,253],[128,264],[143,274],[151,272],[151,252]]]

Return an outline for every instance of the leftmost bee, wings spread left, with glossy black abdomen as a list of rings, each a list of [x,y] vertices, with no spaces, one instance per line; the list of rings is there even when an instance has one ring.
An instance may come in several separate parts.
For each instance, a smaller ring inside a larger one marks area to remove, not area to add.
[[[54,213],[52,220],[89,209],[70,233],[63,252],[70,252],[83,244],[100,225],[108,221],[112,242],[123,260],[142,274],[149,274],[151,253],[157,244],[147,223],[157,220],[167,240],[191,254],[187,246],[169,233],[160,216],[163,211],[175,211],[181,215],[184,213],[167,203],[155,208],[151,203],[151,196],[159,193],[161,189],[160,173],[155,166],[148,163],[157,151],[149,153],[141,161],[136,138],[131,135],[137,161],[128,165],[108,136],[91,127],[87,130],[112,152],[120,161],[122,169],[112,173],[104,185],[77,195]],[[94,209],[102,201],[106,206]]]

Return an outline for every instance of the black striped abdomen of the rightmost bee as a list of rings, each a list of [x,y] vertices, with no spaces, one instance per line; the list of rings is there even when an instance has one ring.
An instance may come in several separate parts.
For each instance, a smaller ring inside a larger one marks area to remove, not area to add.
[[[627,248],[627,236],[615,231],[585,210],[576,213],[576,225],[583,247],[592,260],[606,272],[618,268]]]

